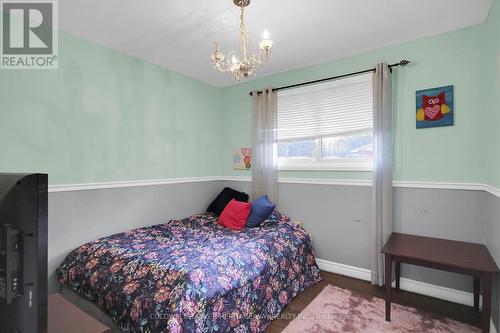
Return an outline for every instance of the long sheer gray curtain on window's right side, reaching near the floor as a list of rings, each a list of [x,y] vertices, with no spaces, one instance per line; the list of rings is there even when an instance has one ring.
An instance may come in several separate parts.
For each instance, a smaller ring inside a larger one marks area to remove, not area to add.
[[[392,82],[387,64],[373,74],[373,189],[372,284],[384,284],[384,258],[380,253],[393,231],[392,193]]]

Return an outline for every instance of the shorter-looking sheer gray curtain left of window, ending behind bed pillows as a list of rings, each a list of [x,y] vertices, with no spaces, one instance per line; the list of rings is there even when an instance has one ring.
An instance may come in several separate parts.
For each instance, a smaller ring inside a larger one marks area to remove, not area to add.
[[[276,151],[277,94],[272,88],[253,92],[252,112],[252,197],[278,200],[278,158]]]

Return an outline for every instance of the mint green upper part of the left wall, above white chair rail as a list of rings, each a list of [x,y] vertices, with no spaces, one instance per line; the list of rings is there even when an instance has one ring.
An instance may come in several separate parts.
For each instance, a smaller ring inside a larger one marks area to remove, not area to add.
[[[0,172],[218,175],[220,89],[65,33],[59,45],[58,70],[0,71]]]

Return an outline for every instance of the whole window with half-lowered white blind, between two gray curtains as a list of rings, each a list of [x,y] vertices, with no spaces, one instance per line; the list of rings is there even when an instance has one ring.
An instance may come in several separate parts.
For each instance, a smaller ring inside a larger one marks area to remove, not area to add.
[[[372,75],[278,93],[281,170],[371,170]]]

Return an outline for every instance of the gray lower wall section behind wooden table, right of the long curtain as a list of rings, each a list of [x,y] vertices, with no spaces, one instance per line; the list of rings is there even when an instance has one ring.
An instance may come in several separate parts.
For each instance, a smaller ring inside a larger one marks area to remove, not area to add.
[[[396,231],[484,243],[482,191],[397,188]],[[402,276],[444,287],[472,292],[472,277],[411,265],[402,265]]]

